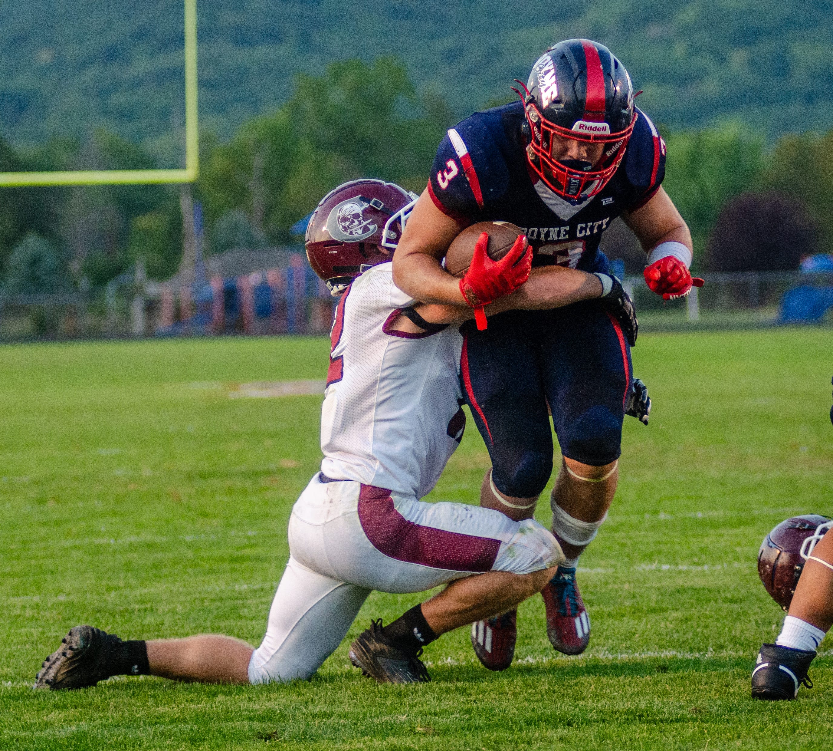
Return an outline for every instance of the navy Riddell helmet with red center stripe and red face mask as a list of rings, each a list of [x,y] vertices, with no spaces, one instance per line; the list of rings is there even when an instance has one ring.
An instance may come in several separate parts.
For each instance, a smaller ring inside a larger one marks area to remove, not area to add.
[[[538,58],[526,85],[517,83],[531,170],[561,198],[596,195],[619,168],[636,123],[625,66],[603,44],[567,39]],[[606,144],[601,161],[554,158],[556,138]]]

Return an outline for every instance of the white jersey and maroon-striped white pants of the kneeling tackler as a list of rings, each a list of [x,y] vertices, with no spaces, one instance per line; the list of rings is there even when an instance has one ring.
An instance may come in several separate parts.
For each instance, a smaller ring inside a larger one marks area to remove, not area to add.
[[[421,592],[486,571],[531,573],[563,555],[532,520],[423,503],[462,437],[462,338],[393,331],[415,301],[377,265],[342,295],[322,408],[322,472],[292,509],[290,558],[252,653],[252,683],[310,678],[373,589]]]

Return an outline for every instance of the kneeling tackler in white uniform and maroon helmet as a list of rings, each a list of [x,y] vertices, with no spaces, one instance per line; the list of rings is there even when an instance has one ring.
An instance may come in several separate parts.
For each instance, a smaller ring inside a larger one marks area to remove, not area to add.
[[[220,635],[122,641],[77,626],[43,663],[36,686],[78,688],[142,673],[232,683],[311,678],[373,589],[447,584],[387,626],[372,621],[350,648],[352,662],[379,682],[426,681],[419,659],[426,644],[513,608],[549,581],[564,556],[534,520],[419,500],[463,433],[463,339],[447,324],[472,311],[416,304],[393,285],[386,262],[413,198],[391,183],[354,181],[327,195],[310,220],[307,256],[341,294],[322,407],[324,459],[292,509],[290,558],[260,647]],[[482,303],[511,293],[490,312],[604,297],[600,304],[635,323],[621,285],[606,274],[550,267],[523,284],[531,265],[526,238],[501,262],[476,260],[466,282]]]

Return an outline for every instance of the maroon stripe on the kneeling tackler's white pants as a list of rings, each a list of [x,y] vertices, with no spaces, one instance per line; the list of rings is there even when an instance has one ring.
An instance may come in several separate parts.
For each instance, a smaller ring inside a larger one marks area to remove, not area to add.
[[[409,522],[393,506],[391,491],[362,485],[359,522],[374,548],[388,558],[451,571],[491,571],[500,540],[446,532]]]

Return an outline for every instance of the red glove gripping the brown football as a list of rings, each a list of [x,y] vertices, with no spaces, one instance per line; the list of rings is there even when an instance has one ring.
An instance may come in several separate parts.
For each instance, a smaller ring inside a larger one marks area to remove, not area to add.
[[[466,303],[474,308],[477,328],[486,328],[483,306],[514,292],[529,278],[532,268],[532,249],[526,235],[518,235],[509,253],[500,261],[492,261],[486,253],[489,235],[482,233],[474,247],[471,265],[460,280],[460,291]]]

